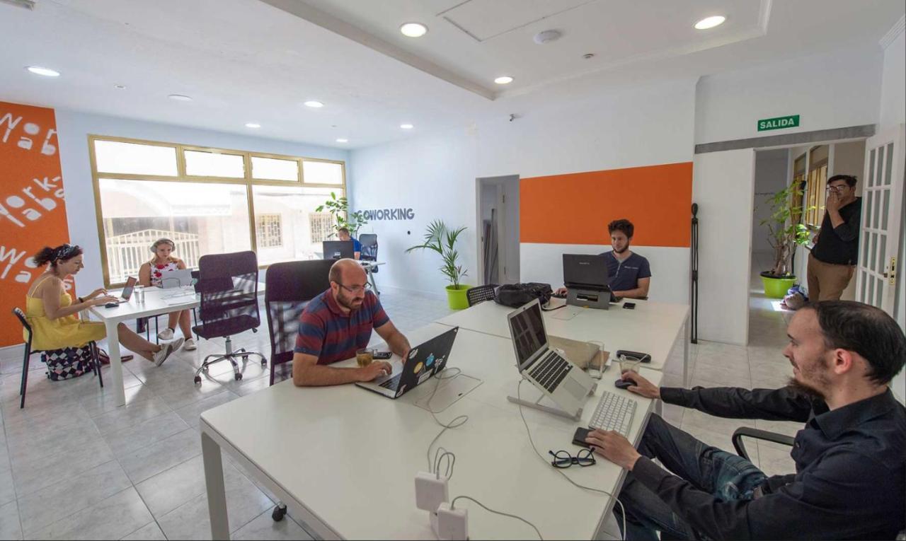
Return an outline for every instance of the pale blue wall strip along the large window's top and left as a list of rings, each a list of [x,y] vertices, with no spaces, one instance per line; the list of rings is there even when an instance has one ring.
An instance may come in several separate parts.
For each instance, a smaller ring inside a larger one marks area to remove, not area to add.
[[[92,168],[88,156],[88,136],[103,135],[137,138],[201,147],[255,150],[291,156],[347,160],[343,149],[314,147],[275,139],[243,137],[234,134],[155,124],[138,120],[105,117],[70,110],[56,110],[60,141],[60,164],[66,191],[66,216],[72,242],[85,251],[85,269],[79,273],[79,289],[92,290],[103,285],[101,244],[98,238],[97,214],[94,207]],[[349,168],[347,167],[347,184]]]

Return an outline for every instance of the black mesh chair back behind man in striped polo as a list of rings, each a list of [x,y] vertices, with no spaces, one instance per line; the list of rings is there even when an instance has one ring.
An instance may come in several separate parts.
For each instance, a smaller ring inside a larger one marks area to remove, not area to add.
[[[308,301],[331,287],[333,260],[275,263],[265,272],[267,331],[271,338],[271,384],[277,365],[293,360],[299,316]],[[283,375],[285,375],[285,370]]]

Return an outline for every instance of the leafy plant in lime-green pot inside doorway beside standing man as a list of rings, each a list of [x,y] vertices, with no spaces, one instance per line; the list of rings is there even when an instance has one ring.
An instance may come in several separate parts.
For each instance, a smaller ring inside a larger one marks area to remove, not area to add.
[[[767,241],[774,248],[774,267],[761,273],[765,295],[783,299],[786,290],[795,284],[795,274],[790,268],[796,246],[808,243],[808,228],[800,222],[803,213],[802,188],[798,184],[786,186],[765,200],[770,205],[771,216],[761,221],[767,226]]]

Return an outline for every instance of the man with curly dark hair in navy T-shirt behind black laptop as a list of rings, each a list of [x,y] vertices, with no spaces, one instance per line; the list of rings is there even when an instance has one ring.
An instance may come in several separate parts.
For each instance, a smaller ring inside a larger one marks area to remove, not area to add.
[[[629,220],[614,220],[607,224],[611,234],[611,252],[603,252],[607,262],[607,281],[616,297],[644,299],[651,286],[651,265],[648,260],[629,249],[635,226]],[[556,295],[565,295],[566,288],[557,289]]]

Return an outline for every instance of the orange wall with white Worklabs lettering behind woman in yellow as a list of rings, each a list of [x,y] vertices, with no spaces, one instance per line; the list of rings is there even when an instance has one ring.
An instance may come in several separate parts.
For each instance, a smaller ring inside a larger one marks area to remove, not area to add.
[[[32,256],[69,242],[53,109],[0,101],[0,346],[22,344],[13,308],[42,269]],[[66,281],[72,294],[72,279]]]

